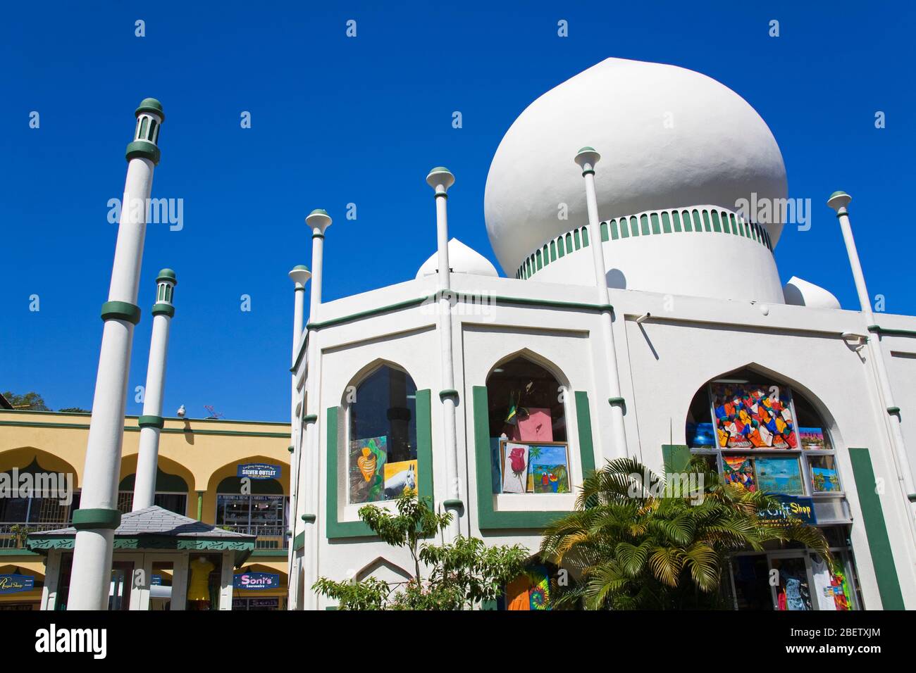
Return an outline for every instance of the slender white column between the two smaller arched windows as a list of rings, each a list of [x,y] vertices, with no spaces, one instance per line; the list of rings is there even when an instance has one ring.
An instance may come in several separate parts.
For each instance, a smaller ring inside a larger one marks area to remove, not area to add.
[[[445,433],[445,478],[446,499],[442,505],[452,510],[452,523],[447,533],[454,539],[461,532],[459,516],[463,509],[461,500],[461,483],[458,477],[458,440],[455,435],[455,405],[458,402],[458,391],[454,389],[454,357],[452,344],[452,298],[451,272],[449,267],[449,217],[447,201],[448,190],[455,178],[448,168],[438,166],[426,177],[427,183],[435,190],[436,199],[436,243],[439,253],[437,269],[437,294],[439,295],[439,344],[442,352],[442,428]]]

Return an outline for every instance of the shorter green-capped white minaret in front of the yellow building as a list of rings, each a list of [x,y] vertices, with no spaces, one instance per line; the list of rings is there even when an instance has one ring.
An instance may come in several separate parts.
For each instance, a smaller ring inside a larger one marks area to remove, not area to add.
[[[140,450],[136,457],[133,511],[153,504],[156,497],[156,468],[159,459],[159,430],[162,429],[162,394],[166,385],[166,357],[169,353],[169,326],[175,316],[175,272],[159,271],[156,278],[156,303],[153,304],[153,335],[149,340],[147,387],[143,397]]]

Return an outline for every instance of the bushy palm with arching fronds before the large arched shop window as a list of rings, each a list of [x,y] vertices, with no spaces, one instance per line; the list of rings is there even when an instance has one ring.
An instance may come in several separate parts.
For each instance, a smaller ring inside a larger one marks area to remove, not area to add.
[[[561,603],[582,601],[592,610],[725,607],[720,586],[730,553],[796,542],[832,562],[817,528],[758,516],[779,505],[771,495],[723,483],[698,458],[679,477],[694,479],[698,489],[678,493],[630,458],[608,461],[585,479],[575,511],[549,526],[540,546],[543,560],[580,577]]]

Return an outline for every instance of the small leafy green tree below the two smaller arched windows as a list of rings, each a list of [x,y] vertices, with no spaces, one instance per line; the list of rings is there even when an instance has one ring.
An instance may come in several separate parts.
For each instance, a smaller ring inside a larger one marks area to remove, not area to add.
[[[435,514],[415,492],[401,494],[396,507],[397,514],[392,514],[365,505],[359,516],[388,545],[408,549],[414,567],[409,581],[322,577],[312,589],[337,601],[341,610],[467,610],[496,600],[506,583],[524,571],[529,552],[518,545],[487,547],[483,540],[463,536],[450,544],[425,542],[449,526],[452,514]],[[424,567],[426,577],[421,574]]]

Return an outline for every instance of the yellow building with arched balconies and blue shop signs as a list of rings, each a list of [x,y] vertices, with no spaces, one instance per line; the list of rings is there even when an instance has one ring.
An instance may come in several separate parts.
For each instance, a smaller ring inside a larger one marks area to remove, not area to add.
[[[89,420],[89,414],[0,409],[0,610],[38,609],[45,558],[28,551],[24,537],[70,525],[80,502]],[[139,437],[137,417],[125,417],[118,489],[122,513],[133,505]],[[250,479],[243,481],[245,476]],[[40,490],[42,484],[54,484],[71,497],[42,497],[50,495]],[[233,609],[286,607],[289,423],[166,418],[155,504],[256,535],[254,552],[234,570],[235,585],[268,588],[235,588]],[[115,607],[126,608],[126,602]]]

